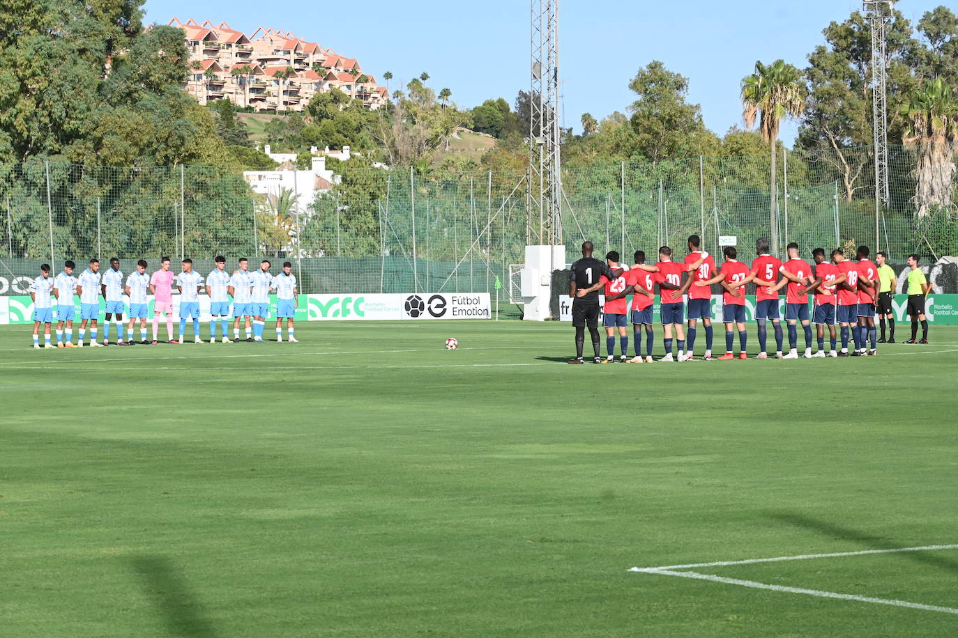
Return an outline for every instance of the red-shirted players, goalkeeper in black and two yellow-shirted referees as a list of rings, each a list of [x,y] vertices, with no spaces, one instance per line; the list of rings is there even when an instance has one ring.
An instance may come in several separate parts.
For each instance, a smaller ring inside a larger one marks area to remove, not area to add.
[[[825,250],[812,251],[815,266],[799,256],[798,244],[787,246],[788,260],[783,263],[769,253],[768,240],[756,242],[758,257],[751,266],[738,261],[734,247],[723,250],[724,262],[720,270],[711,255],[699,250],[700,239],[692,235],[688,239],[690,253],[683,263],[672,260],[673,252],[668,246],[659,249],[659,261],[650,266],[645,263],[645,253],[637,251],[631,268],[619,263],[619,253],[606,254],[605,262],[592,257],[591,242],[582,244],[582,259],[572,265],[570,297],[573,297],[573,325],[576,327],[576,359],[569,363],[582,363],[584,329],[592,336],[595,352],[594,363],[614,361],[615,332],[618,330],[623,363],[652,363],[652,306],[655,286],[661,295],[660,314],[663,324],[663,344],[666,355],[660,362],[686,362],[695,360],[697,322],[705,329],[704,361],[729,361],[747,359],[748,335],[745,328],[745,284],[756,286],[755,319],[758,324],[760,353],[757,359],[766,359],[768,337],[767,322],[772,322],[775,338],[775,357],[798,359],[798,324],[805,333],[806,358],[868,356],[877,354],[876,313],[881,318],[884,341],[884,319],[891,321],[891,341],[894,342],[895,327],[892,315],[891,296],[894,293],[895,275],[885,264],[887,255],[878,253],[877,262],[869,259],[869,248],[859,246],[857,262],[846,258],[841,249],[834,249],[828,261]],[[927,343],[928,324],[924,316],[925,295],[930,290],[924,273],[918,267],[919,256],[909,255],[908,265],[908,314],[912,319],[912,338],[907,343]],[[683,277],[684,275],[684,277]],[[781,275],[781,278],[779,276]],[[684,278],[684,281],[683,281]],[[712,356],[712,311],[711,286],[719,284],[722,289],[722,320],[725,324],[725,354]],[[789,351],[783,352],[784,335],[779,311],[779,291],[786,288],[786,321]],[[605,305],[603,325],[605,328],[606,358],[599,354],[599,290],[604,289]],[[632,295],[631,321],[633,324],[634,353],[628,359],[627,295]],[[688,341],[684,334],[685,303],[688,294]],[[810,317],[809,295],[814,297],[814,310]],[[921,341],[916,341],[919,321],[923,329]],[[812,354],[811,323],[816,326],[817,351]],[[836,349],[835,323],[840,327],[841,350]],[[825,349],[825,329],[828,327],[830,349]],[[645,350],[641,337],[645,331]],[[673,358],[673,331],[677,346],[677,359]],[[735,333],[738,332],[740,350],[734,352]],[[849,353],[849,339],[854,341],[854,350]],[[686,345],[688,346],[686,349]]]

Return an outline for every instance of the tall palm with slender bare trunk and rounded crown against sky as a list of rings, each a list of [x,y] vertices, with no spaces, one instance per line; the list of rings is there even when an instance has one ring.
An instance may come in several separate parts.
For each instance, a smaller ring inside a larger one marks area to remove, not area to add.
[[[775,180],[775,156],[779,127],[785,118],[798,118],[805,111],[808,90],[802,73],[784,60],[769,65],[755,63],[755,73],[741,80],[742,117],[752,128],[761,117],[762,139],[771,145],[771,239],[772,253],[778,253],[778,195]]]

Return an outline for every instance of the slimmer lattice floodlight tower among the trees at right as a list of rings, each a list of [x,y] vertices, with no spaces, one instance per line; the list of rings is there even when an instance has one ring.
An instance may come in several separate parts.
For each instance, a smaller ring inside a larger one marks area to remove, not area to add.
[[[872,30],[872,127],[875,131],[875,245],[878,248],[878,220],[891,199],[888,186],[888,55],[886,27],[894,11],[894,0],[863,0],[863,9]]]

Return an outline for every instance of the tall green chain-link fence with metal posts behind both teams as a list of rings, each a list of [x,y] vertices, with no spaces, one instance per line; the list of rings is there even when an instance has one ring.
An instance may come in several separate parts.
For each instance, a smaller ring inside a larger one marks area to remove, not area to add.
[[[892,148],[891,196],[878,207],[870,149],[777,159],[774,228],[767,154],[567,168],[567,255],[588,239],[598,253],[652,259],[662,245],[683,253],[693,233],[716,252],[720,236],[734,235],[745,256],[773,233],[803,253],[862,243],[896,262],[958,253],[953,205],[916,213],[915,148]],[[491,293],[498,280],[508,296],[510,266],[539,242],[521,172],[330,167],[340,183],[307,204],[280,190],[256,195],[239,172],[209,166],[0,166],[0,276],[34,275],[41,261],[57,269],[118,256],[131,270],[139,258],[152,267],[162,255],[212,264],[224,254],[288,259],[304,293]]]

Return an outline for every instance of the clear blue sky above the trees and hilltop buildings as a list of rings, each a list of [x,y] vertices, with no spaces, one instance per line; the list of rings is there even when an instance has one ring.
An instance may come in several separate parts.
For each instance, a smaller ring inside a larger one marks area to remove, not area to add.
[[[945,0],[901,0],[912,23]],[[822,30],[861,7],[855,0],[560,0],[563,125],[581,128],[582,113],[602,119],[625,112],[628,81],[653,59],[688,77],[690,100],[706,125],[723,134],[741,124],[739,82],[755,60],[784,58],[804,68],[822,43]],[[233,0],[148,0],[147,21],[175,15],[202,23],[225,20],[252,33],[261,24],[292,30],[336,53],[359,59],[381,81],[383,72],[408,80],[429,73],[437,90],[449,87],[461,107],[529,89],[527,0],[350,0],[280,3]],[[783,130],[790,140],[795,126]]]

